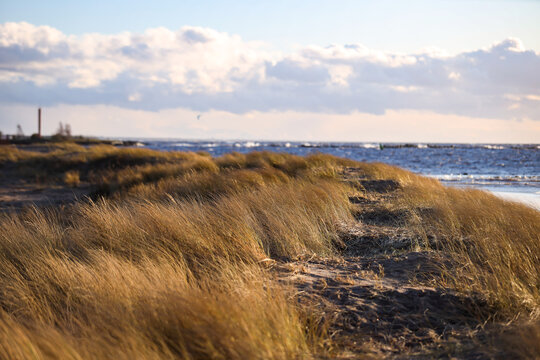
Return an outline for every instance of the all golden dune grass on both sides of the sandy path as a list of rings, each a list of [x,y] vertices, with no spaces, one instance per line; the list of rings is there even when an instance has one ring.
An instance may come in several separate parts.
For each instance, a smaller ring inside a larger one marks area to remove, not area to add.
[[[439,286],[540,333],[540,213],[482,191],[322,154],[1,147],[0,166],[96,190],[72,207],[0,215],[1,358],[324,355],[323,316],[264,264],[346,246],[348,196],[362,188],[341,181],[346,168],[400,184],[384,207],[408,214],[402,225],[423,239],[411,246],[452,259]],[[525,341],[516,334],[508,343]]]

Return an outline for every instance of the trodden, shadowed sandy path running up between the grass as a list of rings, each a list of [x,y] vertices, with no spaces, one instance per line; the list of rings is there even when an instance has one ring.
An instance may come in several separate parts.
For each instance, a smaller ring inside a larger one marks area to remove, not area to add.
[[[300,257],[274,264],[275,276],[291,286],[302,306],[316,306],[329,321],[338,358],[489,359],[483,352],[486,308],[472,298],[438,287],[436,251],[413,251],[414,234],[401,227],[406,214],[381,208],[395,183],[367,182],[352,196],[357,222],[344,225],[342,256]],[[366,196],[367,195],[367,196]]]

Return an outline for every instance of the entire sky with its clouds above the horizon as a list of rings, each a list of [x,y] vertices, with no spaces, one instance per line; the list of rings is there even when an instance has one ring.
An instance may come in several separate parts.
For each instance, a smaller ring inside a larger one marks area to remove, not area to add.
[[[0,131],[540,142],[540,1],[0,1]]]

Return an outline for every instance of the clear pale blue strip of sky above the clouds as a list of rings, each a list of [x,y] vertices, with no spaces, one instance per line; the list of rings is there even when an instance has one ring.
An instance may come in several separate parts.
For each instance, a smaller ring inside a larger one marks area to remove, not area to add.
[[[535,0],[184,0],[0,2],[0,22],[50,25],[67,34],[202,26],[277,48],[362,43],[387,51],[458,52],[507,37],[540,50]]]

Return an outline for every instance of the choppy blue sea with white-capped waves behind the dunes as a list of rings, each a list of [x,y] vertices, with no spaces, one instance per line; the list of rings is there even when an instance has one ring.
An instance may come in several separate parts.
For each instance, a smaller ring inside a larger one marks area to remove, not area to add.
[[[130,139],[133,140],[133,139]],[[137,139],[155,150],[229,152],[275,151],[332,154],[384,162],[440,180],[448,186],[479,188],[540,209],[540,144],[349,143]]]

